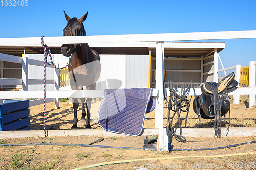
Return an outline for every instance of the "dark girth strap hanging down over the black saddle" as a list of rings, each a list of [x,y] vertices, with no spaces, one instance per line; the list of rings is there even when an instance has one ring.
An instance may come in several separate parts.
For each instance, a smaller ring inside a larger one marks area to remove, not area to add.
[[[212,100],[213,105],[214,105],[214,117],[215,117],[215,122],[214,122],[215,135],[214,135],[214,137],[221,137],[221,105],[220,105],[220,100],[219,100],[219,95],[218,95],[218,87],[217,87],[217,83],[215,83],[215,82],[208,82],[208,84],[211,87],[212,96],[214,98]]]

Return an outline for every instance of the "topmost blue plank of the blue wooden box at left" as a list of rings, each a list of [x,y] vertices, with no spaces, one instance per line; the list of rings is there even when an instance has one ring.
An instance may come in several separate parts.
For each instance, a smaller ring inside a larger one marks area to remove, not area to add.
[[[17,99],[17,98],[16,98]],[[6,100],[0,104],[0,115],[26,109],[29,107],[29,100]]]

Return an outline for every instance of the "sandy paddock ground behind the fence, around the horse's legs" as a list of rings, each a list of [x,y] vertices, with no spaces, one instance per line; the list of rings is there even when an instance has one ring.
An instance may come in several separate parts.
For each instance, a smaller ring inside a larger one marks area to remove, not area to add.
[[[255,113],[256,108],[248,108],[246,102],[247,96],[241,96],[241,104],[231,104],[230,106],[230,124],[231,127],[256,127],[255,123]],[[190,99],[190,97],[189,97]],[[91,107],[91,125],[93,129],[101,128],[98,124],[98,110],[101,105],[103,98],[94,98],[92,100]],[[193,99],[191,99],[193,101]],[[232,102],[232,96],[231,96]],[[246,104],[244,104],[246,103]],[[30,107],[30,123],[31,130],[42,130],[42,120],[43,120],[43,105]],[[78,120],[81,118],[81,104],[79,105],[77,117]],[[54,109],[54,103],[46,104],[46,129],[71,129],[73,124],[73,107],[69,102],[60,102],[60,108]],[[181,114],[182,126],[185,126],[186,113]],[[222,127],[227,127],[229,123],[229,114],[226,114],[226,118],[222,117]],[[176,119],[174,120],[174,123]],[[214,120],[204,120],[201,119],[201,123],[198,120],[197,115],[193,111],[192,105],[190,105],[187,127],[213,127]],[[167,110],[164,108],[164,126],[167,125]],[[78,121],[78,129],[83,129],[86,127],[85,122]],[[155,110],[147,113],[145,116],[144,128],[154,128],[155,127]]]

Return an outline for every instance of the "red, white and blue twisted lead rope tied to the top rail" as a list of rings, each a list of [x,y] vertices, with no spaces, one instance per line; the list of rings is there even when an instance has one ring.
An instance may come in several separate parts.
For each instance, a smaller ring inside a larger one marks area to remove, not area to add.
[[[44,134],[45,134],[45,137],[46,137],[47,136],[46,135],[46,127],[45,127],[45,118],[46,118],[46,64],[53,65],[56,69],[63,69],[63,68],[66,68],[66,67],[69,66],[70,57],[69,57],[69,62],[65,67],[62,67],[62,68],[57,67],[52,61],[52,54],[51,54],[51,51],[50,51],[49,47],[46,44],[44,44],[43,37],[44,36],[41,36],[41,44],[42,44],[42,46],[44,46],[44,120],[43,120],[43,127],[44,127]],[[48,55],[49,55],[50,60],[51,60],[50,63],[47,62],[47,56]]]

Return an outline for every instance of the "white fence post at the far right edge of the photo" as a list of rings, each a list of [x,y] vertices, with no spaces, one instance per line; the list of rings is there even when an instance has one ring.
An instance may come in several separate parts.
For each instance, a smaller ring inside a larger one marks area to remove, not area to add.
[[[255,62],[250,61],[249,64],[249,87],[255,87]],[[255,94],[249,95],[249,108],[255,105]]]

